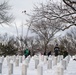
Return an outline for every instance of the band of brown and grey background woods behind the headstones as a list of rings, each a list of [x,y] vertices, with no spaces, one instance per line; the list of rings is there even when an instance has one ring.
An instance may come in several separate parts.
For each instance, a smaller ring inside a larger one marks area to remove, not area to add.
[[[54,47],[56,44],[60,47],[60,54],[64,50],[67,50],[70,55],[76,54],[76,28],[72,28],[64,36],[54,37],[49,44],[47,44],[46,54],[51,51],[54,52]],[[34,37],[8,37],[8,34],[0,36],[0,55],[23,55],[23,51],[28,48],[33,53],[45,52],[45,44],[42,44],[42,40]]]

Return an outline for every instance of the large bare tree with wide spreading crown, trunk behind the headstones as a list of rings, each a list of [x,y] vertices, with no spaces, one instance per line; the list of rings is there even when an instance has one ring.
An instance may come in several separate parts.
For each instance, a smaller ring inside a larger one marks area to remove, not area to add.
[[[76,12],[63,2],[54,3],[49,0],[46,4],[41,3],[39,7],[35,6],[29,16],[29,28],[39,37],[40,45],[44,45],[45,51],[59,30],[76,26]]]

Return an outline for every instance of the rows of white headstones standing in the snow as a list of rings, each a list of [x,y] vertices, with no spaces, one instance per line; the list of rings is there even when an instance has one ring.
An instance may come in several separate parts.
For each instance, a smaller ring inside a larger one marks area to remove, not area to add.
[[[33,57],[28,56],[26,59],[24,56],[6,56],[7,66],[8,66],[8,75],[13,74],[14,63],[15,66],[19,66],[19,63],[22,63],[22,74],[27,75],[27,70],[29,66],[30,59],[33,58],[35,61],[35,69],[37,69],[37,75],[43,75],[43,65],[40,62],[47,64],[47,69],[52,69],[53,66],[56,66],[56,75],[64,75],[64,70],[67,69],[68,63],[70,61],[70,55],[63,59],[62,55],[57,57],[55,56],[44,56],[44,55],[34,55]],[[4,62],[4,56],[0,57],[0,74],[2,74],[2,64]]]

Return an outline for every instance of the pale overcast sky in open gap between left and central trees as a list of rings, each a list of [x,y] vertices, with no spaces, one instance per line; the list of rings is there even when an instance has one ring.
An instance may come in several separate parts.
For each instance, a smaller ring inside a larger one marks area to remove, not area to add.
[[[2,2],[4,0],[0,0]],[[40,2],[46,2],[47,0],[5,0],[8,1],[9,5],[12,6],[10,10],[11,13],[14,15],[15,20],[11,27],[9,26],[0,26],[0,34],[8,33],[11,35],[16,35],[16,27],[15,24],[18,26],[18,32],[21,34],[21,24],[25,23],[27,16],[22,13],[22,11],[26,10],[27,13],[32,13],[32,9],[34,4],[38,4]],[[26,33],[26,27],[24,27],[24,35]]]

